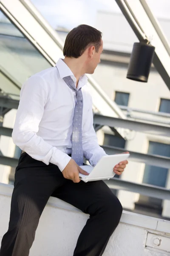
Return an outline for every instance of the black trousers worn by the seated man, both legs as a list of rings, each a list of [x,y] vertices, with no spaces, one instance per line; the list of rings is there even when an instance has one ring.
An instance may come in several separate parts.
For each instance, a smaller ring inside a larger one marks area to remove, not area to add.
[[[50,196],[90,214],[74,256],[101,256],[122,215],[118,198],[101,180],[74,183],[65,179],[57,166],[51,163],[47,166],[26,153],[21,155],[16,168],[9,227],[2,239],[0,256],[29,255]]]

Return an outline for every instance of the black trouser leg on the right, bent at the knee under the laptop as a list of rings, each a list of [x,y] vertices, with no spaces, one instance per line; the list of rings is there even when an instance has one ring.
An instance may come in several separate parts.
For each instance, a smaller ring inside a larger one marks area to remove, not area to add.
[[[103,181],[68,181],[53,195],[90,214],[80,233],[74,256],[102,256],[122,215],[118,198]]]

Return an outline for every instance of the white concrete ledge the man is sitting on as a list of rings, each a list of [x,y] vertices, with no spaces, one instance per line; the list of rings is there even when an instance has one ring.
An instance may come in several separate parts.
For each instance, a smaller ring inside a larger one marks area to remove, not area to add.
[[[13,186],[0,183],[0,241],[7,231]],[[30,256],[71,256],[88,215],[51,197],[36,232]],[[145,247],[147,233],[170,238],[170,221],[123,211],[103,256],[169,256],[159,248]],[[169,241],[169,240],[168,240]]]

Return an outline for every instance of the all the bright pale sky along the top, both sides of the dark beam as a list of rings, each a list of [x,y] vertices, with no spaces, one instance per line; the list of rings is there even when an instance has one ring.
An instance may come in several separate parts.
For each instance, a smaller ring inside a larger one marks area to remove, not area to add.
[[[170,0],[146,1],[156,17],[170,18]],[[95,26],[98,11],[121,12],[115,0],[31,0],[31,2],[54,29],[58,26],[72,29],[79,24]]]

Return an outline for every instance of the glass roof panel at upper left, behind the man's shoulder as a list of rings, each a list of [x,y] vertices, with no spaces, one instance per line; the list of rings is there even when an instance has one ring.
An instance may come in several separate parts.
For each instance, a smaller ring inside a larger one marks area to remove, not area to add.
[[[51,64],[0,12],[0,89],[19,94],[26,79],[49,67]]]

